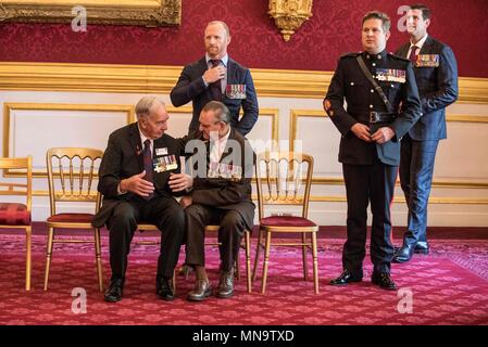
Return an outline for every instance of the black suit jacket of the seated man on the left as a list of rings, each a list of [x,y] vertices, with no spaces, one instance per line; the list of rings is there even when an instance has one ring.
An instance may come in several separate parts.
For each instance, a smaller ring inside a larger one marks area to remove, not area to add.
[[[153,142],[153,157],[157,149],[167,149],[167,154],[175,155],[178,168],[176,170],[153,171],[154,194],[172,197],[167,185],[170,172],[179,172],[179,146],[175,139],[163,134]],[[121,180],[140,174],[143,170],[143,153],[137,123],[125,126],[110,134],[109,144],[103,154],[99,170],[98,191],[103,194],[100,211],[93,218],[95,227],[102,227],[112,216],[114,207],[122,201],[141,198],[137,194],[118,195],[117,187]],[[172,197],[173,198],[173,197]]]

